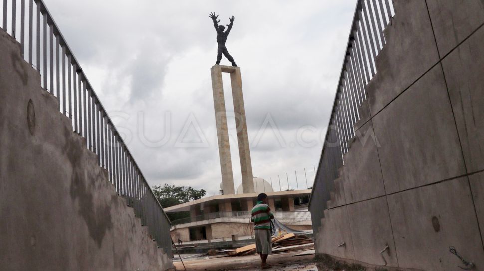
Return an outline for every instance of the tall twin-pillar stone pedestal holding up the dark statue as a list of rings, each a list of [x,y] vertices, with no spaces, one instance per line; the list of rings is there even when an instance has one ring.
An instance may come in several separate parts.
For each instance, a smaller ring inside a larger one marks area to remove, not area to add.
[[[242,94],[242,78],[239,67],[214,65],[211,69],[212,90],[214,94],[215,122],[217,126],[217,139],[219,143],[220,168],[222,172],[222,189],[224,194],[234,194],[234,177],[232,174],[232,161],[230,157],[229,132],[227,129],[227,112],[224,100],[224,87],[222,73],[230,73],[232,98],[234,100],[234,113],[237,127],[237,141],[239,145],[239,158],[242,171],[243,193],[254,193],[252,162],[247,135],[247,122]]]

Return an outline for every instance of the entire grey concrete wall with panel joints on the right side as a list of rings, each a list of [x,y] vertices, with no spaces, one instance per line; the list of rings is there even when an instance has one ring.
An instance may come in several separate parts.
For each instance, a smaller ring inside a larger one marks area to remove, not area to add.
[[[462,266],[454,246],[484,270],[483,1],[393,2],[316,251],[447,271]]]

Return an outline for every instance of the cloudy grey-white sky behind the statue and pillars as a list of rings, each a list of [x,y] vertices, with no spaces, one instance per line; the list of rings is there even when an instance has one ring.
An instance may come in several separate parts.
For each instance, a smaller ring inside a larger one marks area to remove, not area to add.
[[[309,186],[356,0],[44,0],[150,185],[221,182],[210,78],[221,24],[241,67],[252,168],[279,190]],[[230,65],[223,58],[221,64]],[[233,111],[230,78],[226,107]],[[228,113],[229,116],[231,113]],[[229,118],[236,187],[242,182]],[[295,173],[297,171],[298,183]]]

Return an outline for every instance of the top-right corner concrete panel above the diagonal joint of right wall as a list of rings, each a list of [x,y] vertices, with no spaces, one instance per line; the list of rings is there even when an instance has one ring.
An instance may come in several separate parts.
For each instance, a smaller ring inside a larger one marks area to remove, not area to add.
[[[481,0],[426,0],[441,57],[484,23]]]

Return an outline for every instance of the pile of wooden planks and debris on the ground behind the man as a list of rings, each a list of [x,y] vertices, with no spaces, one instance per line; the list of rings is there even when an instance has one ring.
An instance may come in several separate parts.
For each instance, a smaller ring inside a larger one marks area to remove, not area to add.
[[[272,238],[272,253],[282,253],[314,249],[314,242],[305,235],[288,233]],[[255,253],[255,244],[250,244],[235,250],[224,250],[229,256],[243,256]]]

